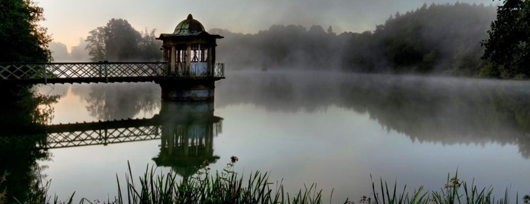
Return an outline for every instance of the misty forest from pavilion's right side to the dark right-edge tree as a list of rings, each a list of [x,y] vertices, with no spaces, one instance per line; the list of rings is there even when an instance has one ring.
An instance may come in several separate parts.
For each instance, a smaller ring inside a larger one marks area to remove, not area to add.
[[[416,10],[390,15],[375,30],[335,35],[319,25],[272,25],[243,35],[222,29],[209,32],[219,40],[219,58],[230,66],[333,69],[363,73],[436,73],[478,76],[496,6],[423,4]],[[485,73],[482,73],[483,75]]]

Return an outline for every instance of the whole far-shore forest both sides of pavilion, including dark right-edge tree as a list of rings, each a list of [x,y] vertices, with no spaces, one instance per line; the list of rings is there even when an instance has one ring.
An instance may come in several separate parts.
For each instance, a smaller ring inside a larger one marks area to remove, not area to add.
[[[258,33],[208,30],[217,41],[217,62],[227,69],[334,70],[359,73],[435,74],[525,79],[530,1],[504,5],[423,4],[396,12],[374,30],[335,33],[313,25],[271,25]],[[56,61],[160,61],[155,29],[139,32],[124,19],[111,19],[72,48],[52,43]],[[509,39],[509,40],[507,40]],[[503,41],[504,40],[504,41]],[[75,52],[74,52],[75,51]],[[61,54],[63,53],[63,54]],[[85,57],[88,60],[89,57]],[[526,59],[526,60],[525,60]]]

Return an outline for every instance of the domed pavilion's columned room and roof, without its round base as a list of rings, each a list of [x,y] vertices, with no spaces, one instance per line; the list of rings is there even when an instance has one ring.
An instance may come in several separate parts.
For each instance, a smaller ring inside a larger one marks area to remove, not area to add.
[[[216,39],[224,38],[210,35],[202,24],[191,14],[176,25],[173,33],[162,33],[163,60],[170,62],[170,73],[176,76],[202,76],[214,74]]]

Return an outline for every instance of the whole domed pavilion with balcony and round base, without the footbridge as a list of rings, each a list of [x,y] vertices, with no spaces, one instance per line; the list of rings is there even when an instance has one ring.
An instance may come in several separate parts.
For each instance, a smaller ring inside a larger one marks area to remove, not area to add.
[[[216,39],[191,14],[176,25],[173,33],[162,33],[166,78],[155,80],[162,88],[162,99],[173,101],[214,100],[215,81],[225,78],[225,64],[215,62]]]

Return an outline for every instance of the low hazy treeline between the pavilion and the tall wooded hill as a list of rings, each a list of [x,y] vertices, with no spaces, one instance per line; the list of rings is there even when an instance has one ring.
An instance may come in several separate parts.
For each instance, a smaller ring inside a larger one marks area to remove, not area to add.
[[[216,60],[230,62],[232,69],[332,69],[339,64],[342,46],[353,35],[337,35],[331,26],[326,32],[320,25],[307,30],[302,25],[271,25],[256,34],[233,33],[210,29],[224,36],[218,40]]]

